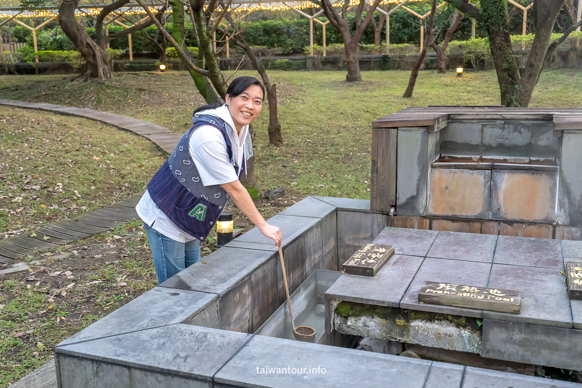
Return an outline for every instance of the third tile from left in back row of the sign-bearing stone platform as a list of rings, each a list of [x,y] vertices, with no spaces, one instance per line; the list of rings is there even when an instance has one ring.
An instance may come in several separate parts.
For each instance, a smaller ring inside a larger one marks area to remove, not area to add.
[[[559,240],[499,236],[493,262],[496,264],[563,268]]]

